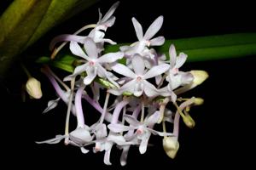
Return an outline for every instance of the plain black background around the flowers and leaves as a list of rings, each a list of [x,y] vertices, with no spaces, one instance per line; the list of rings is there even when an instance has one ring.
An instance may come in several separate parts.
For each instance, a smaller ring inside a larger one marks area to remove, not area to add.
[[[38,41],[26,53],[49,54],[49,41],[56,35],[72,33],[85,24],[97,20],[97,8],[102,13],[108,10],[114,1],[96,3],[82,14],[55,27]],[[5,8],[6,5],[2,6]],[[164,15],[164,25],[158,35],[166,39],[197,37],[236,32],[255,32],[255,12],[253,4],[243,1],[218,2],[205,1],[189,3],[186,1],[121,1],[115,16],[115,25],[108,29],[107,36],[116,42],[134,42],[137,40],[131,17],[135,16],[143,24],[144,30],[159,15]],[[64,144],[35,144],[36,140],[50,139],[63,133],[65,123],[64,105],[48,115],[42,115],[47,101],[55,99],[55,93],[48,80],[32,65],[33,74],[40,78],[44,97],[41,100],[20,101],[20,83],[26,77],[18,65],[9,70],[8,77],[1,82],[1,155],[9,167],[32,168],[209,168],[249,166],[253,162],[253,129],[255,124],[254,104],[254,63],[255,56],[241,59],[224,59],[198,63],[187,63],[183,70],[206,70],[210,77],[190,95],[201,96],[205,105],[193,108],[191,115],[196,126],[189,129],[181,123],[180,149],[175,160],[171,160],[162,150],[160,137],[153,137],[144,155],[132,147],[128,164],[119,165],[119,150],[113,147],[112,167],[103,163],[103,153],[83,155],[79,149]],[[187,94],[187,95],[189,95]],[[86,108],[86,106],[85,106]],[[86,118],[97,114],[84,108]]]

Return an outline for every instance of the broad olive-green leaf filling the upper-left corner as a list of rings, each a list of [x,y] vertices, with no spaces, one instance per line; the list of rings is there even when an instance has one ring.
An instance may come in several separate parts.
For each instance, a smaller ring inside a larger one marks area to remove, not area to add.
[[[15,0],[0,18],[0,76],[44,33],[97,0]]]

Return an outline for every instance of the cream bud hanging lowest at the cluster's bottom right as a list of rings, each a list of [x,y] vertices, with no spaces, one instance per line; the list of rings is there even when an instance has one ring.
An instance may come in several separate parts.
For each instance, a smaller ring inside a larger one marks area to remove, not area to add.
[[[163,139],[163,147],[164,147],[164,150],[166,151],[166,155],[174,159],[175,156],[177,155],[177,150],[179,148],[177,137],[176,136],[165,137]]]

